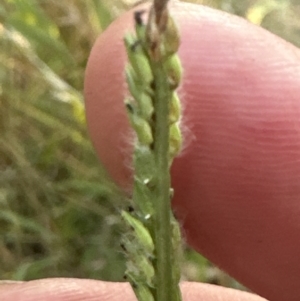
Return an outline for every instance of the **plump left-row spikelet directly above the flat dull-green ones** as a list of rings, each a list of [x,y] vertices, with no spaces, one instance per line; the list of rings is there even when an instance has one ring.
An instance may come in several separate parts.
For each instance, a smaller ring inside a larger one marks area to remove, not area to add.
[[[138,115],[138,109],[133,101],[125,100],[125,106],[130,124],[136,132],[138,141],[143,145],[151,145],[153,143],[153,135],[149,123]]]

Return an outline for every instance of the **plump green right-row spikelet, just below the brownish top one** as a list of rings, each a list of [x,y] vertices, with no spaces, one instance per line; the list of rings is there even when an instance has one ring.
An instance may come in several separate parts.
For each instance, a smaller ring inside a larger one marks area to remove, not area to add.
[[[177,54],[169,56],[163,64],[166,73],[168,74],[168,80],[171,89],[176,89],[182,78],[182,66]]]

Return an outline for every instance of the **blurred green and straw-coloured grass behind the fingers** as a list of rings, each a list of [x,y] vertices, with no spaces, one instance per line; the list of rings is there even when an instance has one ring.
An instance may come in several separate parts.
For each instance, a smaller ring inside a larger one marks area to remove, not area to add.
[[[122,281],[126,200],[89,140],[84,70],[130,0],[0,0],[0,279]],[[249,19],[300,46],[298,0],[188,1]],[[183,278],[239,287],[186,249]]]

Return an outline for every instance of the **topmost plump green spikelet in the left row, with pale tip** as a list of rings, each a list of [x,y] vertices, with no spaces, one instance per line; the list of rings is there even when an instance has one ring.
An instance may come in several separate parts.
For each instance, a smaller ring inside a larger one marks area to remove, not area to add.
[[[142,44],[132,34],[126,34],[124,42],[132,68],[141,81],[149,86],[153,81],[153,74]]]

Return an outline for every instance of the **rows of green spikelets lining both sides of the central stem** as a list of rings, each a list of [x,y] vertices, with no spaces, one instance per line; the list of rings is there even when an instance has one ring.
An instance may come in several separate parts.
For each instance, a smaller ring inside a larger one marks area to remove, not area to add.
[[[162,31],[153,21],[153,9],[150,12],[147,26],[143,22],[144,11],[134,14],[135,35],[127,33],[124,44],[128,56],[125,77],[130,97],[125,99],[125,107],[129,122],[136,133],[134,152],[134,210],[122,211],[122,217],[128,225],[128,233],[124,235],[122,248],[127,257],[125,277],[131,285],[139,301],[157,300],[156,249],[154,220],[156,218],[153,198],[157,183],[156,162],[153,154],[155,144],[154,111],[155,79],[152,70],[154,61],[161,62],[166,73],[170,95],[168,101],[167,124],[169,131],[169,166],[180,152],[182,134],[180,131],[181,105],[175,89],[182,78],[182,67],[176,52],[179,47],[179,33],[172,17],[165,13],[166,28]],[[158,46],[158,48],[156,47]],[[156,47],[156,48],[155,48]],[[170,192],[170,198],[172,196]],[[174,292],[172,301],[181,300],[178,282],[180,279],[179,252],[181,246],[180,227],[174,217],[171,218],[172,229],[172,262]]]

